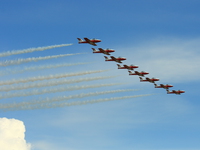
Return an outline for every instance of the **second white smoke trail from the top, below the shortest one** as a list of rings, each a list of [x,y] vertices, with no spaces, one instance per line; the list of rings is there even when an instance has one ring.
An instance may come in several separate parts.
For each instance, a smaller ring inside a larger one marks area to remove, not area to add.
[[[0,62],[0,66],[18,65],[18,64],[28,63],[28,62],[32,62],[32,61],[47,60],[47,59],[79,55],[79,54],[84,54],[84,53],[60,54],[60,55],[52,55],[52,56],[45,56],[45,57],[30,57],[30,58],[21,58],[21,59],[17,59],[17,60],[6,60],[4,62]]]

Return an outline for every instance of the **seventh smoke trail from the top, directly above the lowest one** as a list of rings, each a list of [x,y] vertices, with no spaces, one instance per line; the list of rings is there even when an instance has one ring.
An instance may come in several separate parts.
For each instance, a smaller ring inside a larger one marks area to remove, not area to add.
[[[22,106],[28,106],[28,105],[38,105],[38,104],[44,104],[44,103],[54,103],[54,102],[61,102],[76,98],[84,98],[84,97],[90,97],[90,96],[98,96],[98,95],[105,95],[105,94],[114,94],[114,93],[120,93],[120,92],[129,92],[129,91],[138,91],[138,89],[126,89],[126,90],[112,90],[112,91],[103,91],[103,92],[91,92],[91,93],[82,93],[77,95],[71,95],[71,96],[59,96],[54,98],[45,98],[40,100],[32,100],[32,101],[24,101],[20,103],[14,103],[14,104],[1,104],[0,109],[7,109],[7,108],[17,108]]]

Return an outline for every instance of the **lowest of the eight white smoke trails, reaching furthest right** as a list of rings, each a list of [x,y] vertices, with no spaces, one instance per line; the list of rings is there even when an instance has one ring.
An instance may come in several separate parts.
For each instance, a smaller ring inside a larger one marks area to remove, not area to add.
[[[122,96],[122,97],[112,97],[112,98],[103,98],[97,100],[87,100],[87,101],[76,101],[76,102],[63,102],[63,103],[47,103],[47,104],[38,104],[38,105],[22,105],[17,106],[17,104],[1,104],[0,109],[3,111],[15,111],[15,110],[34,110],[34,109],[45,109],[45,108],[58,108],[58,107],[69,107],[69,106],[77,106],[77,105],[87,105],[87,104],[95,104],[107,101],[114,101],[114,100],[123,100],[123,99],[130,99],[130,98],[137,98],[137,97],[144,97],[144,96],[151,96],[154,94],[144,94],[144,95],[134,95],[134,96]]]

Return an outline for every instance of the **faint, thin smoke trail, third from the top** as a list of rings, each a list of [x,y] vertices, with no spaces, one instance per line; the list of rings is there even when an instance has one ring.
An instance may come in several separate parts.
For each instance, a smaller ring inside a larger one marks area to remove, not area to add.
[[[28,71],[36,71],[36,70],[43,70],[43,69],[51,69],[51,68],[58,68],[58,67],[69,67],[69,66],[76,66],[76,65],[85,65],[87,63],[62,63],[62,64],[52,64],[52,65],[40,65],[40,66],[33,66],[33,67],[21,67],[15,69],[6,69],[5,71],[0,72],[0,76],[9,75],[9,74],[17,74],[17,73],[24,73]]]

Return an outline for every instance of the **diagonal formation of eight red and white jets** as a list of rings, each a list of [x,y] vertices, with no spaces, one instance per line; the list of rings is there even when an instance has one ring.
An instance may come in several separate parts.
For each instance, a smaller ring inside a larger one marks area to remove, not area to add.
[[[84,40],[80,39],[80,38],[77,38],[78,39],[78,43],[81,44],[81,43],[88,43],[88,44],[91,44],[93,46],[97,46],[96,43],[98,42],[101,42],[100,39],[88,39],[88,38],[84,38]],[[102,49],[102,48],[98,48],[98,50],[96,50],[95,48],[92,48],[93,50],[93,53],[103,53],[105,55],[110,55],[110,53],[112,52],[115,52],[115,50],[113,49]],[[126,60],[126,58],[124,57],[114,57],[114,56],[110,56],[110,58],[108,58],[107,56],[104,56],[105,57],[105,61],[115,61],[117,63],[122,63],[122,61]],[[148,72],[144,72],[144,71],[134,71],[135,68],[138,68],[138,66],[136,65],[123,65],[121,66],[120,64],[117,64],[118,66],[118,69],[127,69],[128,72],[129,72],[129,75],[138,75],[139,76],[139,79],[140,79],[140,82],[150,82],[150,83],[153,83],[154,84],[154,87],[155,88],[163,88],[167,91],[167,94],[177,94],[177,95],[180,95],[181,93],[185,93],[185,91],[183,90],[172,90],[170,91],[169,88],[173,87],[173,85],[169,85],[169,84],[160,84],[160,85],[157,85],[155,82],[156,81],[159,81],[160,79],[158,78],[142,78],[144,77],[145,75],[149,74]],[[134,73],[132,71],[134,71]]]

